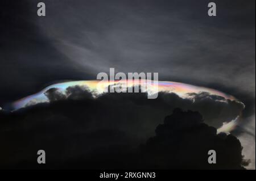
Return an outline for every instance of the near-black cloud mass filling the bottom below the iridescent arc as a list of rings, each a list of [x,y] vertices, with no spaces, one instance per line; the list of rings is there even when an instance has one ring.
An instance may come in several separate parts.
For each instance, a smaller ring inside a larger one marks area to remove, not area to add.
[[[88,91],[68,90],[72,99],[56,101],[58,90],[52,89],[50,103],[0,112],[1,168],[242,169],[235,137],[216,135],[198,112],[167,116],[172,108],[168,102],[164,108],[163,95],[152,100],[146,93],[109,93],[74,100]],[[46,150],[46,165],[36,163],[39,149]],[[217,165],[207,165],[207,149],[220,153]]]

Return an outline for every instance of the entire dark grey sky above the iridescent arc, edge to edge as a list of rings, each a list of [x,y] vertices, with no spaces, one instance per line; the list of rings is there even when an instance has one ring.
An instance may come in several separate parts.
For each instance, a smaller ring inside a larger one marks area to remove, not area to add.
[[[1,107],[109,68],[158,72],[236,96],[255,135],[254,0],[214,1],[216,17],[201,0],[43,2],[46,17],[37,16],[36,1],[0,2]]]

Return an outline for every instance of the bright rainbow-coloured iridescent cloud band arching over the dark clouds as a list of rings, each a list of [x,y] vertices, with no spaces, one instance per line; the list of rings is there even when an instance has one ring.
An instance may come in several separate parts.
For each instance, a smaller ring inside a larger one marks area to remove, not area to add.
[[[47,96],[44,94],[49,89],[57,88],[59,91],[65,93],[65,90],[68,87],[72,86],[86,86],[88,87],[89,91],[92,92],[92,94],[97,98],[97,96],[104,93],[104,91],[108,90],[109,86],[115,85],[115,83],[125,83],[127,87],[130,86],[137,86],[142,85],[143,81],[139,80],[122,80],[122,81],[71,81],[71,82],[62,82],[62,83],[56,83],[51,86],[46,87],[42,91],[39,91],[36,94],[27,96],[23,99],[17,100],[12,104],[13,110],[19,110],[20,108],[24,108],[27,106],[31,106],[33,104],[38,103],[47,103],[49,102]],[[179,83],[179,82],[168,82],[168,81],[159,81],[158,83],[152,82],[149,83],[149,86],[147,85],[148,94],[154,94],[155,92],[173,92],[180,96],[180,98],[186,98],[186,99],[192,99],[191,94],[199,94],[200,92],[208,92],[210,95],[217,95],[225,98],[226,100],[237,100],[232,95],[225,94],[224,92],[209,89],[207,87],[199,87],[199,86],[193,86],[188,85],[185,83]],[[128,94],[128,93],[127,93]],[[238,101],[238,100],[237,100]],[[229,123],[224,124],[221,128],[218,129],[218,131],[222,132],[230,132],[232,131],[236,125],[238,124],[238,120],[240,119],[241,112],[238,113],[238,117],[236,120],[230,120]]]

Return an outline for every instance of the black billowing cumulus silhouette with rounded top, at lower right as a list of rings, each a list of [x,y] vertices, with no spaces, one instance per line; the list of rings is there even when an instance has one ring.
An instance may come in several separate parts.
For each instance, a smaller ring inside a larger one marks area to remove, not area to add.
[[[156,136],[143,146],[143,162],[158,169],[242,169],[240,141],[203,123],[199,112],[180,109],[156,128]],[[215,150],[217,164],[208,163],[208,151]]]

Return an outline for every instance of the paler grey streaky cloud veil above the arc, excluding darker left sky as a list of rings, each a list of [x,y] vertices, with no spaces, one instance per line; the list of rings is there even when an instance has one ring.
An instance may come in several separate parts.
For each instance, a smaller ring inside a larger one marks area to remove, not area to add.
[[[51,16],[37,23],[94,77],[110,67],[158,72],[159,79],[235,95],[246,104],[244,115],[254,114],[255,1],[216,1],[214,18],[206,1],[46,3]]]

